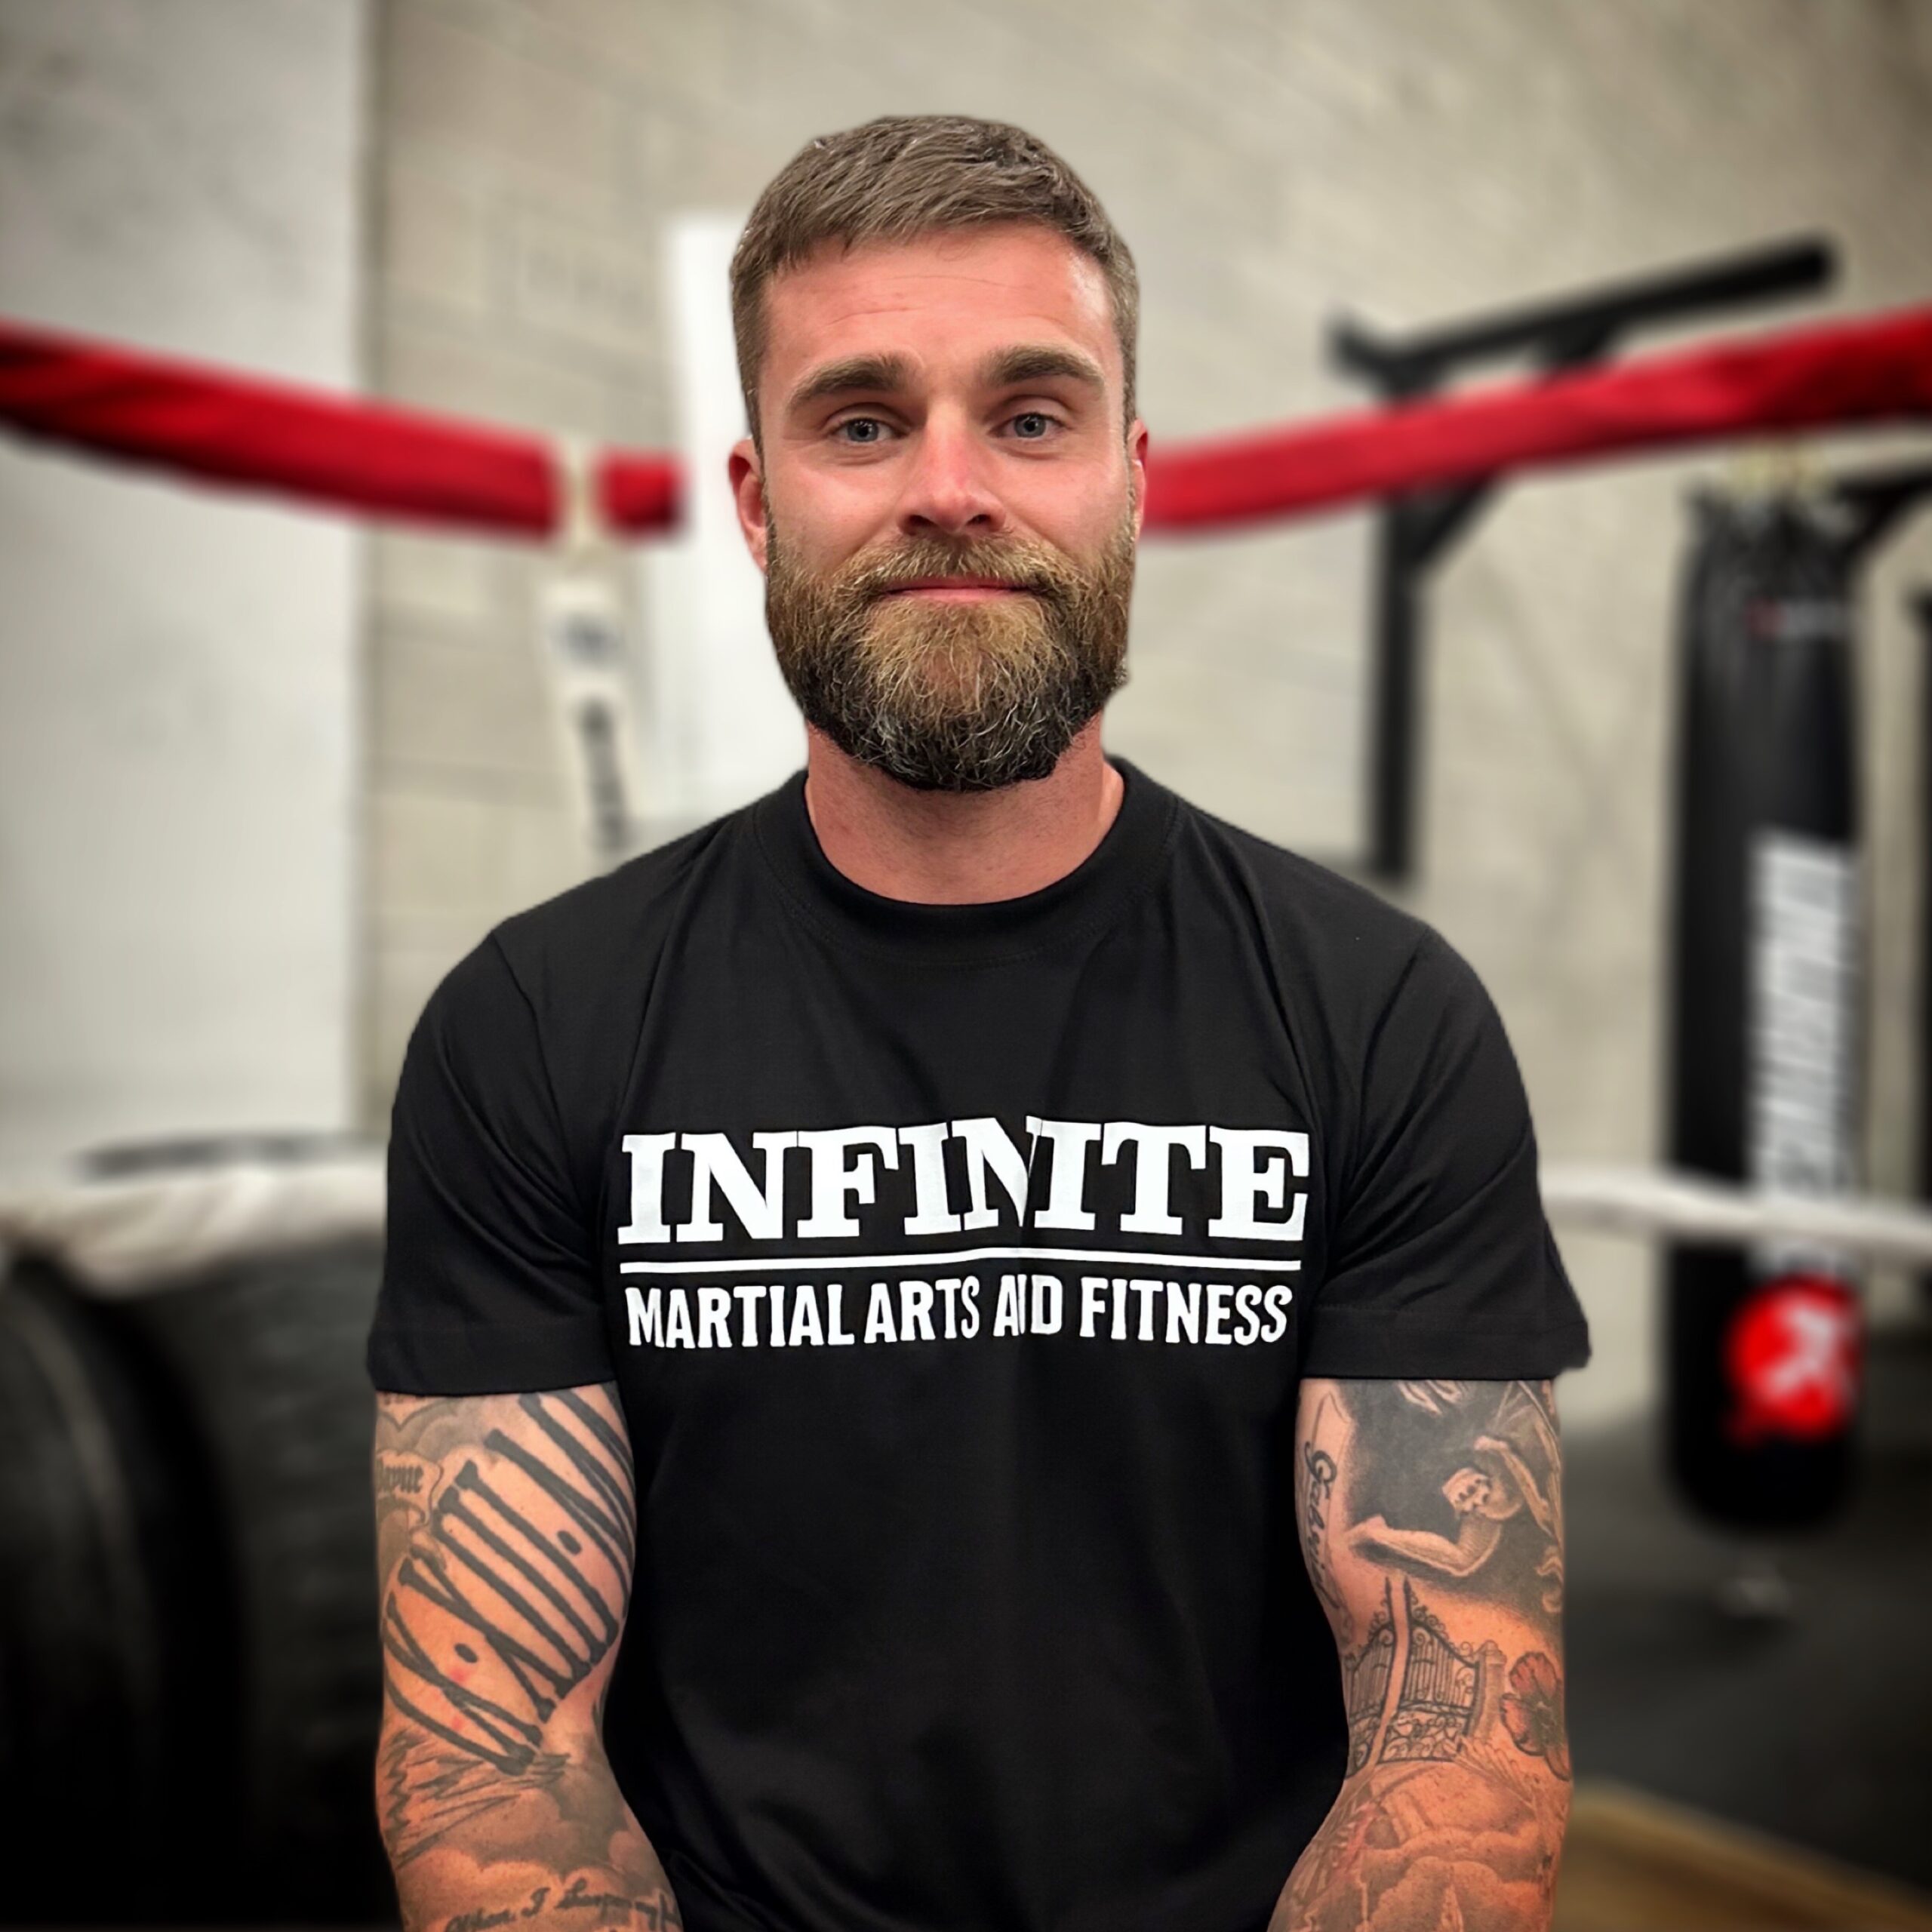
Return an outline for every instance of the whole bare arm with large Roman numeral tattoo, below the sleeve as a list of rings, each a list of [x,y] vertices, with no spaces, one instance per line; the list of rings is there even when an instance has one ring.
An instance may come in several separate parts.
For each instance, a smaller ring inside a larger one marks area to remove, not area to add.
[[[408,1932],[676,1926],[601,1737],[636,1557],[616,1391],[381,1395],[375,1501]]]

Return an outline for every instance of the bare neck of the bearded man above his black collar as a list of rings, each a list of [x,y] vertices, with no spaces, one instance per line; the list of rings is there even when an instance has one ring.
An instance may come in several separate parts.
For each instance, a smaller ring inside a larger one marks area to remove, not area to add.
[[[806,811],[854,885],[923,906],[1022,898],[1107,837],[1126,786],[1094,719],[1045,779],[999,792],[916,792],[806,730]]]

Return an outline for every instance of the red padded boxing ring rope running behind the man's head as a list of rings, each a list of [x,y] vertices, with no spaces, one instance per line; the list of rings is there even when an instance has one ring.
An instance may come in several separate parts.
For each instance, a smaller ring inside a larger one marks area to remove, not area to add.
[[[1932,307],[1830,323],[1157,448],[1150,529],[1335,510],[1623,450],[1932,417]],[[201,481],[452,529],[543,537],[562,514],[541,437],[234,377],[0,321],[0,423]],[[676,524],[674,456],[599,458],[618,535]]]

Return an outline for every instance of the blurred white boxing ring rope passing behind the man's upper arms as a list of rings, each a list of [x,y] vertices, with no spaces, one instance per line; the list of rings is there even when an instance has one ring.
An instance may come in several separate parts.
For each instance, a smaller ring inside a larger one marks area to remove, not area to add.
[[[1551,1163],[1559,1227],[1685,1244],[1804,1242],[1932,1269],[1932,1213],[1874,1198],[1764,1194],[1658,1167]],[[41,1254],[97,1294],[126,1296],[330,1240],[383,1233],[383,1153],[0,1186],[0,1254]]]

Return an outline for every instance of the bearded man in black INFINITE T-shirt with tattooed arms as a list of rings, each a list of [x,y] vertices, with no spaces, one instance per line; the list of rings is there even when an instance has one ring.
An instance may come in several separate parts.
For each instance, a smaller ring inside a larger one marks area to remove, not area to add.
[[[1470,972],[1101,753],[1132,261],[900,118],[732,284],[806,773],[500,925],[396,1099],[406,1918],[1542,1926],[1584,1325]]]

